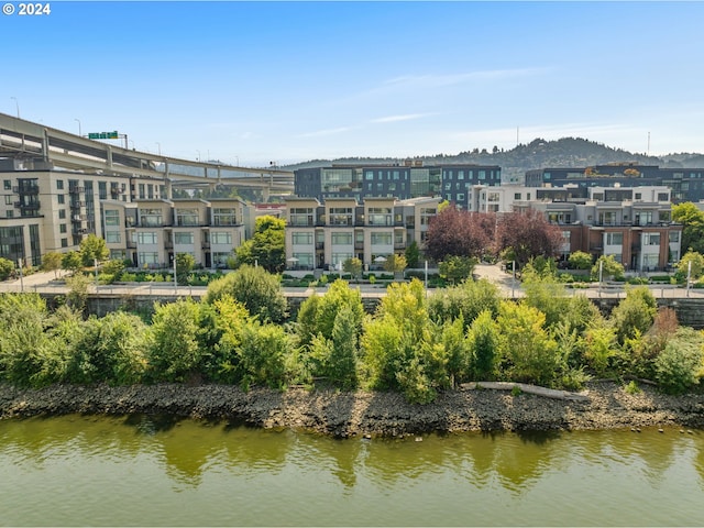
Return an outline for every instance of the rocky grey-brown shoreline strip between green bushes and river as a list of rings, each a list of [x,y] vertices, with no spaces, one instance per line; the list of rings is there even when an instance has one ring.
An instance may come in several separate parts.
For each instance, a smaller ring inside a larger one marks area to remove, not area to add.
[[[263,428],[292,428],[338,438],[488,430],[575,430],[704,427],[704,394],[668,396],[644,386],[628,394],[614,382],[593,382],[578,399],[554,399],[488,388],[441,393],[428,405],[394,393],[338,391],[248,393],[222,385],[129,387],[55,385],[42,389],[0,384],[0,418],[65,414],[151,414],[223,419]]]

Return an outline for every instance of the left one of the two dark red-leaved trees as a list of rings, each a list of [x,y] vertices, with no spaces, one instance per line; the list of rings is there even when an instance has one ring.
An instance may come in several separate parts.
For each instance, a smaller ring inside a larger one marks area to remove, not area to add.
[[[428,226],[426,254],[436,262],[448,256],[482,257],[491,251],[496,217],[448,206]]]

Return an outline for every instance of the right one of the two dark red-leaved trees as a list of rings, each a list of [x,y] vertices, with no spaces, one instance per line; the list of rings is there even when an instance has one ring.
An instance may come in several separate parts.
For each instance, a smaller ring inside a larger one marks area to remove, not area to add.
[[[536,256],[557,256],[564,244],[559,227],[539,211],[508,212],[498,219],[496,244],[510,254],[520,268]]]

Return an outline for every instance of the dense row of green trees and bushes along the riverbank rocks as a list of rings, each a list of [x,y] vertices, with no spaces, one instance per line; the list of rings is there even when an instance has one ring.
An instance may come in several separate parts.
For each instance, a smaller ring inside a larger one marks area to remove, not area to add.
[[[647,288],[628,289],[605,317],[531,266],[524,285],[514,301],[485,279],[432,295],[417,279],[393,283],[366,315],[360,292],[336,280],[295,318],[278,277],[246,265],[211,283],[201,301],[156,304],[147,320],[85,318],[69,301],[51,311],[36,294],[3,294],[0,378],[362,388],[422,404],[470,381],[578,389],[592,377],[638,378],[682,393],[704,375],[702,332],[658,310]]]

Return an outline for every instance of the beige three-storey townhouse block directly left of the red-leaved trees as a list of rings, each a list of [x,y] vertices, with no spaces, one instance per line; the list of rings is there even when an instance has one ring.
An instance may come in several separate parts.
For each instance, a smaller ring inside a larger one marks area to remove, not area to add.
[[[407,200],[366,197],[286,199],[286,262],[289,268],[337,268],[358,257],[366,270],[403,254],[414,241],[422,250],[438,197]]]

